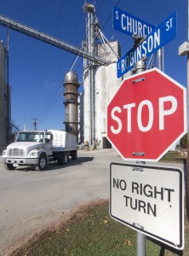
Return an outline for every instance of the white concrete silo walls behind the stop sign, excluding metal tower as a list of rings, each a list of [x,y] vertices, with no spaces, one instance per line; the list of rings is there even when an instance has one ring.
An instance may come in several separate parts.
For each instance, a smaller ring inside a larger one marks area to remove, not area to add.
[[[120,46],[118,42],[98,45],[98,55],[112,64],[108,66],[97,66],[94,68],[94,102],[95,102],[95,122],[94,134],[95,141],[101,148],[109,148],[111,145],[106,138],[106,108],[107,104],[114,96],[122,82],[122,78],[117,79],[117,56],[120,56]],[[85,68],[83,72],[83,89],[84,89],[84,142],[91,141],[91,122],[90,122],[90,82],[89,69]]]

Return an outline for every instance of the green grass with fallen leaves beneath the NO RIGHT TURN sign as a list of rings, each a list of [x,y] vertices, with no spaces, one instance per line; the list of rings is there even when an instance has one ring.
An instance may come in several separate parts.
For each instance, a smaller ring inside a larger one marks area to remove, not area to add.
[[[189,239],[186,224],[186,239]],[[146,256],[159,255],[161,247],[146,239]],[[189,255],[189,247],[183,255]],[[108,201],[98,201],[80,208],[58,230],[43,232],[14,253],[35,256],[134,256],[136,232],[109,216]],[[164,255],[177,255],[166,250]]]

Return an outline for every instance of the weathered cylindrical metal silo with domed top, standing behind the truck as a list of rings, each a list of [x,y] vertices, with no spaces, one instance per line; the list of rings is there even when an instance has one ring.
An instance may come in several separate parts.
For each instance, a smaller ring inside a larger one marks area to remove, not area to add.
[[[78,135],[78,118],[77,107],[79,105],[77,101],[78,93],[78,80],[77,73],[72,71],[66,73],[64,81],[64,93],[65,96],[65,122],[66,131],[73,135]]]

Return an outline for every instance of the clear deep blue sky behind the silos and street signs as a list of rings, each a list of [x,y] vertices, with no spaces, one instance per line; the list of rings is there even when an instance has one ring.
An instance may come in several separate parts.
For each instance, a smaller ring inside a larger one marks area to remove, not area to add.
[[[81,48],[85,38],[86,14],[84,0],[1,0],[0,14],[60,38]],[[187,40],[186,0],[89,0],[95,3],[96,16],[102,32],[109,40],[118,40],[122,55],[134,42],[128,35],[112,27],[112,7],[116,6],[135,17],[156,26],[174,11],[177,12],[177,36],[164,47],[164,73],[186,86],[186,56],[178,55],[180,44]],[[0,39],[6,45],[7,30],[0,26]],[[65,74],[76,55],[57,49],[35,38],[9,30],[9,84],[12,86],[12,120],[20,129],[64,129]],[[83,59],[78,58],[73,71],[83,81]],[[83,90],[81,85],[80,91]],[[158,88],[157,88],[158,90]]]

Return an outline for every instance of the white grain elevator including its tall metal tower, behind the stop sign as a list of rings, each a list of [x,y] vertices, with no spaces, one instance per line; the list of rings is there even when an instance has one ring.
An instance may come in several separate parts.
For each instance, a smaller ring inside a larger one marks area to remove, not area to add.
[[[80,131],[83,135],[81,137],[83,143],[90,145],[98,143],[101,148],[109,148],[111,145],[106,139],[106,107],[122,80],[122,78],[117,79],[116,64],[121,49],[117,41],[105,40],[94,15],[94,6],[85,4],[84,12],[87,13],[87,35],[83,48],[92,55],[110,61],[110,64],[103,66],[94,61],[83,61],[83,122],[80,122]]]

